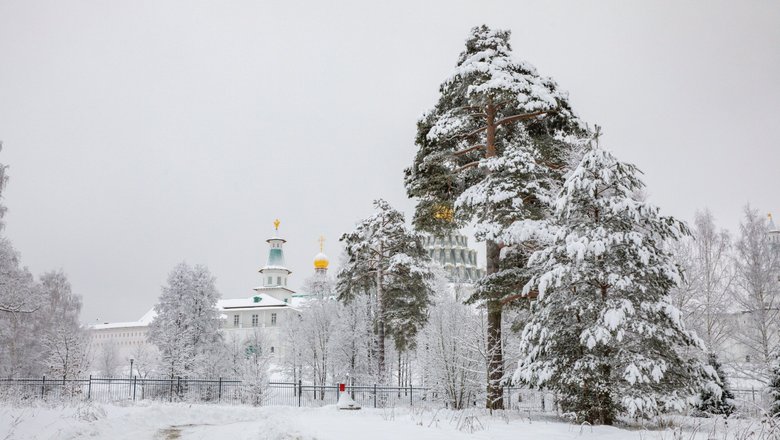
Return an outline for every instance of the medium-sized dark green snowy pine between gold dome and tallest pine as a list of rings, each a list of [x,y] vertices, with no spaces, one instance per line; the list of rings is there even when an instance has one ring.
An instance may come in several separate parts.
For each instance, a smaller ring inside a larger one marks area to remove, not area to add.
[[[431,271],[422,236],[405,225],[403,214],[381,199],[374,209],[341,237],[348,260],[338,273],[336,292],[344,302],[358,295],[372,298],[378,380],[385,383],[386,336],[399,350],[412,344],[426,319]]]

